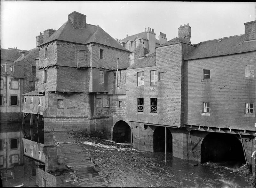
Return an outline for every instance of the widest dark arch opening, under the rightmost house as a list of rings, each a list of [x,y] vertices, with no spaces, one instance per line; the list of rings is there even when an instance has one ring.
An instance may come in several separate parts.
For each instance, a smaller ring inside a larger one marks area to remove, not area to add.
[[[241,141],[233,134],[209,133],[201,144],[201,162],[237,161],[245,163]]]

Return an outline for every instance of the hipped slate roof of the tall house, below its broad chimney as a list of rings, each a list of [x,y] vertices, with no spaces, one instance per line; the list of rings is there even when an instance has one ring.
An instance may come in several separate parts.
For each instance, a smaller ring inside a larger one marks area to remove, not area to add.
[[[55,31],[38,47],[55,40],[80,44],[95,42],[128,51],[123,46],[121,46],[115,39],[113,39],[108,33],[106,33],[100,26],[86,24],[86,28],[74,29],[70,20],[64,23],[57,31]]]

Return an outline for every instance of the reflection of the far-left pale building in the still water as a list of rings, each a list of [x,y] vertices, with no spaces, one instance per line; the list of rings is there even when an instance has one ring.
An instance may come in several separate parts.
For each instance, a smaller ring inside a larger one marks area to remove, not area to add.
[[[23,177],[22,135],[20,123],[1,124],[0,168],[1,177],[18,179]]]

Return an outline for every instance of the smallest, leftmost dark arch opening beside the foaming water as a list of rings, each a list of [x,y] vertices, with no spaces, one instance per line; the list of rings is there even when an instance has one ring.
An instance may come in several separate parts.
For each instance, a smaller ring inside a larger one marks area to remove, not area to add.
[[[112,127],[112,140],[115,142],[130,142],[131,127],[123,120],[117,121]]]

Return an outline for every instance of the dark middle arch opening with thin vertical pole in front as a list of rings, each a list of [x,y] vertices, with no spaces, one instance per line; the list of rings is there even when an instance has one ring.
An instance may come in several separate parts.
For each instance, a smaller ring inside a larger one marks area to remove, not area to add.
[[[172,133],[171,131],[167,128],[167,151],[172,151]],[[165,151],[165,127],[158,126],[154,130],[154,135],[153,135],[153,142],[154,142],[154,147],[153,151],[154,152],[164,152]]]

